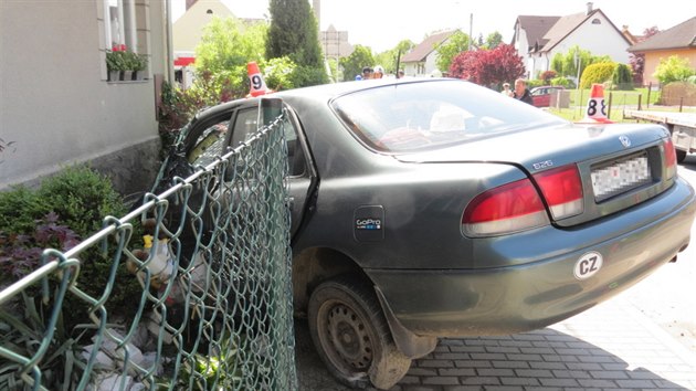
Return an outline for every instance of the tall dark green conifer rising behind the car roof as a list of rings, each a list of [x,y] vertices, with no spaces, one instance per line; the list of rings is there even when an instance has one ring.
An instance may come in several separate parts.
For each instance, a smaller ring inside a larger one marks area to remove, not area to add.
[[[266,57],[287,56],[297,67],[296,86],[328,81],[319,45],[317,21],[307,0],[271,0],[271,27],[266,39]]]

